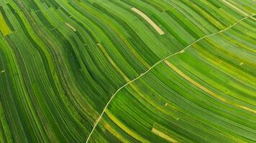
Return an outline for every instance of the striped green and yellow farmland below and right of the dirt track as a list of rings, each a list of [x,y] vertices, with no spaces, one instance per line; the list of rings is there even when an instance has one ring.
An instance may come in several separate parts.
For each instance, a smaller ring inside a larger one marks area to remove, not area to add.
[[[255,142],[252,26],[202,39],[121,89],[88,142]]]

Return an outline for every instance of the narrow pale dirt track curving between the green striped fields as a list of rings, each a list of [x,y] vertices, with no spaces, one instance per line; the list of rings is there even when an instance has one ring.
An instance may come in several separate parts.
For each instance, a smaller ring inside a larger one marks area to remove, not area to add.
[[[91,137],[91,134],[93,133],[93,131],[96,129],[96,126],[98,125],[99,121],[101,120],[101,117],[103,116],[104,112],[106,111],[107,107],[109,107],[110,102],[114,99],[114,97],[116,97],[116,94],[123,89],[124,87],[126,87],[128,84],[134,82],[137,79],[140,79],[140,77],[142,77],[143,75],[147,74],[147,72],[149,72],[152,68],[154,68],[155,66],[157,66],[157,64],[160,64],[162,61],[165,61],[165,59],[170,58],[171,56],[175,56],[176,54],[180,54],[183,53],[186,49],[188,49],[188,47],[192,46],[193,44],[197,43],[198,41],[201,41],[202,39],[206,39],[209,36],[213,36],[216,34],[220,34],[221,32],[227,31],[228,29],[232,28],[233,26],[239,24],[241,21],[243,21],[244,19],[248,19],[252,16],[255,16],[255,14],[250,15],[250,16],[245,16],[244,18],[240,19],[239,21],[237,21],[236,23],[232,24],[231,26],[227,27],[226,29],[217,31],[213,34],[209,34],[206,36],[202,36],[200,39],[197,39],[196,41],[193,41],[191,44],[189,44],[188,46],[186,46],[184,49],[175,52],[174,54],[170,54],[169,56],[166,56],[164,59],[161,59],[160,61],[157,61],[154,65],[152,65],[149,69],[147,69],[147,71],[145,71],[144,73],[140,74],[140,76],[136,77],[135,79],[132,79],[130,82],[127,82],[126,84],[124,84],[122,87],[120,87],[119,89],[116,90],[116,92],[114,92],[114,94],[112,95],[112,97],[109,99],[109,102],[106,103],[106,106],[104,107],[103,111],[101,112],[100,116],[97,118],[96,123],[93,126],[93,129],[91,130],[90,134],[88,135],[87,139],[86,139],[86,143],[88,142],[88,140]]]

